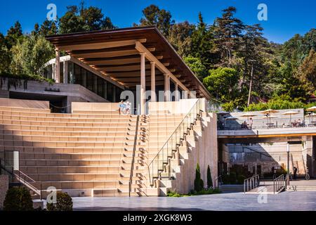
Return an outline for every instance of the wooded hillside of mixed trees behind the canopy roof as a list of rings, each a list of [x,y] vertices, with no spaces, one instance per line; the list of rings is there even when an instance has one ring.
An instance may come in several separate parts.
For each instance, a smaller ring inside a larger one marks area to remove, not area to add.
[[[170,11],[150,5],[133,26],[156,25],[224,110],[306,107],[316,94],[316,30],[276,44],[263,37],[261,25],[245,24],[236,12],[225,8],[212,24],[202,13],[196,24],[176,23]],[[0,75],[39,75],[54,57],[46,35],[114,28],[100,8],[84,2],[68,6],[56,22],[34,25],[30,34],[16,22],[0,34]]]

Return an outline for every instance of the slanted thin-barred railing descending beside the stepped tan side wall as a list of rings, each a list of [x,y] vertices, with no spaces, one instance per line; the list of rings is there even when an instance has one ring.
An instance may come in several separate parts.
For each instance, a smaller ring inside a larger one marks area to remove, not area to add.
[[[173,158],[173,154],[178,151],[178,146],[181,145],[181,141],[185,139],[185,135],[187,135],[187,132],[195,125],[195,122],[199,119],[202,112],[202,101],[201,99],[197,99],[189,113],[185,115],[157,155],[155,155],[148,164],[150,186],[154,186],[154,179],[162,177],[171,179],[171,159]],[[165,172],[165,174],[163,174],[164,176],[162,176],[163,172]]]

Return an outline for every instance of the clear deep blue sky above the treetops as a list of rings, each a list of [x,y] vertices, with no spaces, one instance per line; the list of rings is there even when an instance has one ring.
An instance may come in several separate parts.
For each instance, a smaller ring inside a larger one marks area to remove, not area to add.
[[[5,3],[4,3],[5,2]],[[80,0],[25,0],[2,1],[0,8],[0,32],[6,34],[16,20],[22,24],[23,32],[32,31],[35,23],[46,18],[46,6],[56,4],[58,15],[63,15],[66,6],[79,4]],[[265,37],[270,41],[283,43],[294,34],[305,34],[316,28],[315,0],[86,0],[87,6],[98,6],[112,19],[114,25],[131,27],[138,23],[141,11],[150,4],[171,11],[176,22],[188,20],[197,23],[202,12],[206,23],[213,23],[221,10],[228,6],[237,8],[237,18],[246,24],[261,23]],[[258,21],[258,4],[268,6],[268,21]]]

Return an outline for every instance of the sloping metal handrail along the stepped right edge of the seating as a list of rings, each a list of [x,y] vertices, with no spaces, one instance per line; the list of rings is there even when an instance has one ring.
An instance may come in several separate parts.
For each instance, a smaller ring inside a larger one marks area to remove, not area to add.
[[[199,109],[197,109],[197,104],[199,103]],[[199,110],[199,112],[197,112],[197,110]],[[160,150],[158,151],[157,155],[154,156],[154,158],[152,159],[152,161],[148,164],[148,174],[149,174],[149,180],[150,180],[150,186],[154,186],[154,161],[157,160],[157,176],[159,176],[159,170],[162,170],[163,169],[159,169],[159,155],[162,155],[162,167],[164,167],[164,165],[168,165],[170,164],[170,159],[173,158],[172,154],[171,156],[169,155],[169,152],[168,152],[168,148],[169,148],[169,141],[171,141],[171,146],[177,146],[177,145],[180,145],[180,141],[181,139],[184,139],[184,136],[187,134],[187,129],[189,129],[189,127],[185,127],[185,122],[186,124],[187,123],[187,120],[188,118],[191,116],[191,115],[194,115],[194,118],[193,118],[193,121],[195,122],[200,113],[202,112],[203,110],[201,110],[201,101],[200,99],[197,99],[197,101],[195,102],[195,104],[192,106],[192,108],[190,109],[189,113],[187,113],[187,115],[185,115],[185,117],[183,117],[183,120],[180,122],[180,124],[178,125],[178,127],[176,127],[176,129],[173,131],[173,133],[169,136],[169,139],[167,139],[167,141],[164,143],[164,145],[162,146],[162,148],[160,148]],[[195,118],[195,115],[196,118]],[[191,119],[191,118],[190,118]],[[190,129],[192,127],[194,123],[192,123],[192,121],[190,121]],[[181,134],[181,126],[183,126],[182,128],[182,132],[183,134]],[[180,134],[177,136],[177,131],[178,129],[180,129]],[[186,131],[185,131],[186,130]],[[176,135],[175,135],[176,134]],[[173,138],[174,138],[174,135],[176,136],[175,139],[175,143],[173,143]],[[183,137],[182,137],[182,136]],[[179,140],[179,143],[177,143],[177,139]],[[167,153],[165,154],[164,153],[164,148],[167,148]],[[172,148],[172,147],[171,147]],[[171,153],[173,152],[173,150],[171,150]],[[164,159],[166,158],[166,159]],[[150,167],[152,167],[152,176],[151,176],[151,173],[150,173]],[[170,165],[169,165],[169,168],[170,168]],[[170,171],[169,171],[169,179],[171,178],[171,174],[170,174]]]

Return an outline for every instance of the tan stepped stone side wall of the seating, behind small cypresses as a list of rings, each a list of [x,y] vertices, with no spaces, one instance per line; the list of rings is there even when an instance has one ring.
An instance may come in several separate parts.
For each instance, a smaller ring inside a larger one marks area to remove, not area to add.
[[[199,163],[201,179],[207,184],[207,167],[211,169],[212,181],[218,174],[218,146],[216,133],[216,114],[204,113],[201,120],[194,126],[194,134],[186,136],[187,146],[180,147],[180,167],[173,165],[176,179],[162,180],[161,186],[169,187],[178,193],[189,193],[194,190],[195,169]],[[166,184],[170,182],[171,184]],[[168,190],[166,190],[168,191]],[[166,193],[160,193],[164,195]]]

